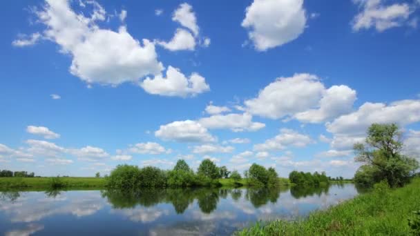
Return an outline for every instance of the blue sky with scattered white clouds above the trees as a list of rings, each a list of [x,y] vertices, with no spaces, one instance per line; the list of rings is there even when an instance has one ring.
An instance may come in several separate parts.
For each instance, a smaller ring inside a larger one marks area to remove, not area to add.
[[[204,158],[352,177],[372,122],[420,155],[420,2],[13,1],[0,169],[91,176]]]

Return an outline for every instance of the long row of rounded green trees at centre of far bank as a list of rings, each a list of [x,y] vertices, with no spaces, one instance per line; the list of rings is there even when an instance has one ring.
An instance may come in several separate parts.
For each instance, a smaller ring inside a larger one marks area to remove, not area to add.
[[[253,164],[245,171],[247,184],[250,186],[276,186],[279,184],[278,174],[274,168]],[[241,185],[242,176],[238,171],[229,171],[226,166],[216,166],[210,159],[204,159],[197,172],[187,162],[180,159],[172,170],[161,170],[153,166],[139,168],[137,166],[119,165],[107,177],[108,188],[135,189],[140,187],[190,187],[220,186],[220,178],[233,179]]]

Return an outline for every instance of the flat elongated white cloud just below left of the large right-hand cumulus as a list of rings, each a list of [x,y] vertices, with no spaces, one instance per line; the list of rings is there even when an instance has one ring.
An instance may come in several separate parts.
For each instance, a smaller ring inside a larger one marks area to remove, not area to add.
[[[211,117],[204,117],[198,122],[209,129],[229,128],[233,132],[256,131],[265,127],[263,123],[253,122],[252,115],[249,113],[212,115]]]

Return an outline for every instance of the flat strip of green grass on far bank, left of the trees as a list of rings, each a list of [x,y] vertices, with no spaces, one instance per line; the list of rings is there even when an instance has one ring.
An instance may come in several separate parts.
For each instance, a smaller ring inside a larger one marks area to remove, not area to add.
[[[0,189],[8,188],[50,188],[52,181],[57,177],[1,177]],[[104,178],[95,177],[59,177],[66,188],[104,188]]]

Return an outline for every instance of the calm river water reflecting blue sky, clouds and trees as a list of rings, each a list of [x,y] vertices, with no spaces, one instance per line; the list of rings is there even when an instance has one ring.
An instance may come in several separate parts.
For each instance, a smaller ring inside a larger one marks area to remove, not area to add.
[[[231,235],[258,220],[305,217],[357,194],[353,184],[1,192],[0,235]]]

